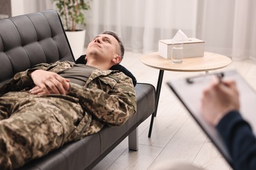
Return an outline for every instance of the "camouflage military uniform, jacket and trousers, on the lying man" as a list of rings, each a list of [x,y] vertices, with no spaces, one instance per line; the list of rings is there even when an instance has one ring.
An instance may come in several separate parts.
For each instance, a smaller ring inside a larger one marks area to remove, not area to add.
[[[136,112],[132,80],[118,71],[95,69],[85,86],[70,83],[68,95],[28,93],[35,69],[61,73],[73,66],[69,61],[36,65],[0,88],[0,169],[24,165],[104,124],[124,124]]]

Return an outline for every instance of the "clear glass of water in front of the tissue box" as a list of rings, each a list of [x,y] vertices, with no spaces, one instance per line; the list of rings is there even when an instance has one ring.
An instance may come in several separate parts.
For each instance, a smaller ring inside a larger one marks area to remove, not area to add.
[[[171,48],[171,61],[173,63],[182,63],[183,61],[183,42],[173,42],[173,48]]]

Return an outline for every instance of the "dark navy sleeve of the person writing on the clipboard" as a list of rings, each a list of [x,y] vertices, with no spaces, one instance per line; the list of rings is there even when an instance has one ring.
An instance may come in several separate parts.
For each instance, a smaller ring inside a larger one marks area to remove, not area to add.
[[[256,138],[240,113],[233,110],[226,114],[217,130],[228,148],[234,169],[256,169]]]

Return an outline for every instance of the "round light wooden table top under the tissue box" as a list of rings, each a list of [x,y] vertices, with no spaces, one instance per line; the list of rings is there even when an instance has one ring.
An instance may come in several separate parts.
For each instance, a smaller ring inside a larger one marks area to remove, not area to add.
[[[204,52],[203,57],[198,58],[183,58],[182,63],[174,64],[171,59],[165,59],[158,55],[158,52],[152,52],[141,56],[140,61],[154,69],[165,71],[210,71],[221,69],[231,63],[231,59],[221,54],[212,52]]]

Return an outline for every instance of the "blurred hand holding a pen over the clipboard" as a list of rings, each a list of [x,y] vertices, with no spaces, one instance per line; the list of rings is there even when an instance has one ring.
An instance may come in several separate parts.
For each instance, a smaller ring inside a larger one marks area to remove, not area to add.
[[[223,75],[217,78],[203,90],[201,99],[203,117],[213,126],[230,110],[239,110],[239,93],[234,80],[223,80]]]

